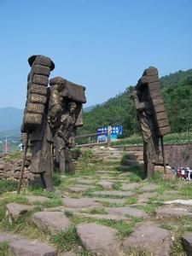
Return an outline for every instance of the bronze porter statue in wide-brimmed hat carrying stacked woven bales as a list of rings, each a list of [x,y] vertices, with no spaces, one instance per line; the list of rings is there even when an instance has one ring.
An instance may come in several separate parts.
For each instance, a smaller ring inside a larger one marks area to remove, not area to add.
[[[26,108],[22,132],[30,139],[32,164],[30,172],[38,173],[47,191],[53,190],[51,155],[51,131],[48,124],[49,73],[55,67],[53,61],[43,55],[32,55],[28,62],[32,67],[28,75]]]

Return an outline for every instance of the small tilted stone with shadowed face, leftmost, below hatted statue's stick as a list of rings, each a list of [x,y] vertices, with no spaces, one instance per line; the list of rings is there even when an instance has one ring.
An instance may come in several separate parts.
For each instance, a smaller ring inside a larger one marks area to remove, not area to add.
[[[34,206],[20,205],[17,203],[9,203],[7,206],[7,214],[11,219],[17,220],[20,216],[26,212],[32,211]]]

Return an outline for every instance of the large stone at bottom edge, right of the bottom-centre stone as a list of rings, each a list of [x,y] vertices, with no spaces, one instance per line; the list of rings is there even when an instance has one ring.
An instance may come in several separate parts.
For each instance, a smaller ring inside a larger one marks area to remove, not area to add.
[[[130,255],[130,249],[135,248],[138,252],[134,255],[140,255],[139,250],[142,250],[148,252],[146,255],[167,256],[171,246],[172,236],[170,232],[151,224],[142,224],[137,227],[131,236],[123,242],[126,255]]]

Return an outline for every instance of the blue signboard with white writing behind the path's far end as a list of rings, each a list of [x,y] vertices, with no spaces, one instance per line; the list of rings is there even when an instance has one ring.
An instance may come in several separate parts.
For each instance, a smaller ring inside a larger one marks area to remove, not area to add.
[[[101,132],[109,132],[111,141],[117,140],[118,136],[122,134],[122,126],[116,125],[116,126],[103,126],[96,129],[97,133]],[[98,135],[97,136],[97,143],[105,143],[108,141],[108,134]]]

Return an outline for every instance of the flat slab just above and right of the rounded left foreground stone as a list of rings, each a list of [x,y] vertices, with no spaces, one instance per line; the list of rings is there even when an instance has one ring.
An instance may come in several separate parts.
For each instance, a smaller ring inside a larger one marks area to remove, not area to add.
[[[92,198],[63,198],[63,204],[68,208],[86,208],[86,207],[101,207],[101,204],[94,201]]]

